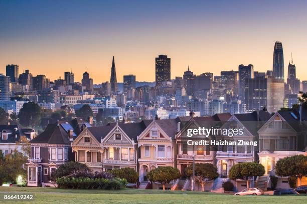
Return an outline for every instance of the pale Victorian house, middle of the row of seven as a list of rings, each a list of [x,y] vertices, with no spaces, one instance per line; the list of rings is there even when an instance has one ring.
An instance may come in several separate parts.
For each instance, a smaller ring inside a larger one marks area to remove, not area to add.
[[[140,147],[139,180],[147,180],[148,171],[158,166],[176,167],[177,119],[144,120],[146,128],[137,136]]]

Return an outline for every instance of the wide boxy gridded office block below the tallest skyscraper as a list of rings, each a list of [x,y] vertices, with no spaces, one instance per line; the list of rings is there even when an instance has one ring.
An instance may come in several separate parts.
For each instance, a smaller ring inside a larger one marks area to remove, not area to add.
[[[265,105],[269,112],[283,107],[284,81],[273,76],[257,76],[245,79],[246,110],[252,112]]]

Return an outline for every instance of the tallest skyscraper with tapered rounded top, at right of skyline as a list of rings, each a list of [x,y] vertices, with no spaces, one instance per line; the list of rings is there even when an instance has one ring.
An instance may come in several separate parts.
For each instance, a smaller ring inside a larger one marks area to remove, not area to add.
[[[281,42],[276,41],[273,52],[273,76],[284,79],[283,50]]]

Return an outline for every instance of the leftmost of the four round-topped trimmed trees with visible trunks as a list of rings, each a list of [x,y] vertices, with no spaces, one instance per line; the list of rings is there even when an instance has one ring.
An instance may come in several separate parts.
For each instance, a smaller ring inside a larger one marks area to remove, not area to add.
[[[172,166],[159,166],[156,169],[150,170],[147,173],[147,177],[151,182],[160,182],[163,185],[163,190],[165,190],[165,184],[180,178],[180,172]]]

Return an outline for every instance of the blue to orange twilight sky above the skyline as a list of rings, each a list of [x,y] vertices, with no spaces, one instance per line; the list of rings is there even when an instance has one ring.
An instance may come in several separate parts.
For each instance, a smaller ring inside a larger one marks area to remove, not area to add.
[[[195,74],[272,69],[275,41],[283,45],[285,76],[293,54],[296,76],[307,80],[305,0],[0,0],[0,73],[20,73],[94,83],[135,74],[155,80],[155,57],[171,57],[171,76],[188,65]]]

